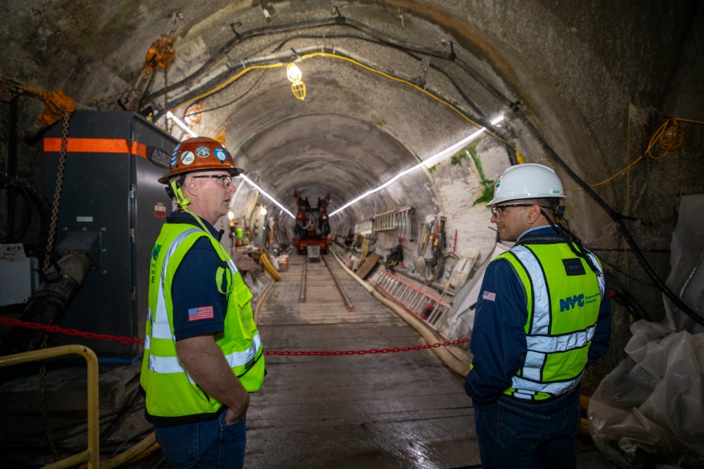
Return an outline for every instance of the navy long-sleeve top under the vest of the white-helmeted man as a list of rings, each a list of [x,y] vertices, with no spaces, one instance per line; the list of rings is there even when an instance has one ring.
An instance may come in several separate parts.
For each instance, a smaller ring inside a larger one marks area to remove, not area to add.
[[[527,234],[555,235],[552,227],[539,227]],[[611,335],[611,306],[605,286],[594,337],[589,347],[587,366],[606,353]],[[485,293],[486,292],[486,293]],[[486,267],[482,289],[474,315],[470,349],[473,368],[465,380],[465,392],[479,404],[491,404],[511,385],[511,378],[522,367],[527,342],[525,323],[528,319],[526,292],[513,265],[495,259]]]

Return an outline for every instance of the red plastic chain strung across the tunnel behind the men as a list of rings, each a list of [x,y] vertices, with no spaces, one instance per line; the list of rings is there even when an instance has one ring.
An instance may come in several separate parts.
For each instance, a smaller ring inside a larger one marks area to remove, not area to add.
[[[65,329],[64,327],[58,327],[56,325],[28,323],[27,321],[13,319],[13,318],[1,318],[0,317],[0,323],[5,323],[8,325],[12,325],[12,326],[18,325],[21,327],[27,327],[29,329],[45,330],[46,332],[59,332],[61,334],[65,334],[65,335],[86,337],[87,339],[113,340],[115,342],[120,342],[122,344],[144,344],[144,339],[132,339],[130,337],[118,337],[118,336],[111,335],[111,334],[96,334],[95,332],[82,332],[80,330],[75,330],[75,329]],[[438,347],[466,344],[467,342],[470,342],[470,339],[457,339],[457,340],[453,340],[453,341],[436,342],[435,344],[414,345],[411,347],[395,347],[394,349],[335,350],[335,351],[265,350],[264,354],[265,355],[279,355],[279,356],[303,356],[303,355],[337,356],[337,355],[387,354],[390,352],[399,352],[399,351],[436,349]]]

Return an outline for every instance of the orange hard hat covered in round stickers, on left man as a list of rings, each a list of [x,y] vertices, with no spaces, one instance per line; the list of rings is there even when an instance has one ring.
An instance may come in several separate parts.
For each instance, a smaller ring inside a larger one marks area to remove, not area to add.
[[[235,168],[230,151],[217,140],[208,137],[194,137],[176,146],[169,161],[169,172],[159,178],[162,184],[177,175],[203,170],[225,170],[231,176],[244,173]]]

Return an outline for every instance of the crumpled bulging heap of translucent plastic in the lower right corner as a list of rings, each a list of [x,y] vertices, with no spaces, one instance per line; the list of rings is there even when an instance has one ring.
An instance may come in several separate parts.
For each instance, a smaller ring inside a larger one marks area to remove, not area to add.
[[[699,460],[704,467],[704,334],[644,320],[631,332],[629,358],[591,397],[592,439],[623,467]]]

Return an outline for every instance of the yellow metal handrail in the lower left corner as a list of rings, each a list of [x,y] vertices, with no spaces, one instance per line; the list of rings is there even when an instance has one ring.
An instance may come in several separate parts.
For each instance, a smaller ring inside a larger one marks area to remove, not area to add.
[[[100,461],[100,433],[98,411],[98,357],[96,357],[95,352],[82,345],[62,345],[49,349],[23,352],[21,354],[0,356],[0,368],[70,354],[82,356],[86,359],[87,363],[88,449],[45,467],[63,469],[87,461],[88,469],[98,469]]]

